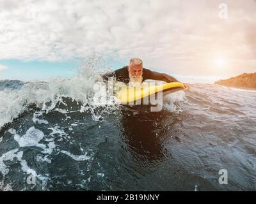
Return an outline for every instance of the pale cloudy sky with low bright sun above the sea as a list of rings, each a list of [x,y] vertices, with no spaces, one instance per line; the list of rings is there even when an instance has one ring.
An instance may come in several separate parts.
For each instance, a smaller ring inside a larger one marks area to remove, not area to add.
[[[0,22],[0,80],[72,77],[95,54],[185,78],[256,72],[255,0],[0,0]]]

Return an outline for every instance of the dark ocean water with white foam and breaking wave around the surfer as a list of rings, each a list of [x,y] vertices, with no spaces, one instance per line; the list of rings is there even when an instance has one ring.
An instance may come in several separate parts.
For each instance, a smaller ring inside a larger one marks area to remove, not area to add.
[[[150,112],[97,82],[0,81],[0,191],[255,191],[256,92],[191,84]]]

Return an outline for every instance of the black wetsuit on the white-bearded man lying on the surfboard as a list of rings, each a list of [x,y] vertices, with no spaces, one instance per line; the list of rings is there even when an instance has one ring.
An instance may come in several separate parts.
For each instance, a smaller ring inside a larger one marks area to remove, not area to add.
[[[109,77],[116,77],[116,80],[118,80],[119,82],[129,83],[130,78],[129,78],[128,66],[124,66],[124,68],[116,69],[111,73],[106,73],[105,75],[102,75],[102,78],[104,80],[108,80]],[[146,79],[159,80],[167,83],[179,82],[176,78],[170,75],[159,73],[156,71],[151,71],[145,68],[143,68],[142,78],[143,78],[142,82],[144,82]]]

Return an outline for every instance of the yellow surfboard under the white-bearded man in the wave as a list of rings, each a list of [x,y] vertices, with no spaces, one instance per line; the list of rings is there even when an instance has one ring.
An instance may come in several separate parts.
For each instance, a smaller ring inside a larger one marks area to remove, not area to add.
[[[171,82],[166,84],[147,83],[141,87],[124,86],[117,92],[117,97],[122,104],[132,103],[139,99],[143,99],[151,94],[159,91],[170,91],[172,89],[183,88],[184,84],[180,82]]]

